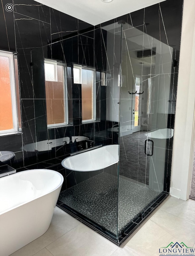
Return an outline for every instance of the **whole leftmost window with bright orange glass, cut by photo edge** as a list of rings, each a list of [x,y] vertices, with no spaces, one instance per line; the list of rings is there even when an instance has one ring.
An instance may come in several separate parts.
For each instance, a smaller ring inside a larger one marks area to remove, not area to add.
[[[0,135],[21,130],[17,55],[0,51]]]

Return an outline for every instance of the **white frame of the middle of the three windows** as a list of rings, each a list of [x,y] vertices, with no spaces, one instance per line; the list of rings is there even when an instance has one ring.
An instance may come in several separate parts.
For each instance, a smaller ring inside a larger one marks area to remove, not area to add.
[[[58,127],[64,127],[64,126],[68,126],[69,125],[69,111],[68,111],[68,87],[67,87],[67,69],[66,69],[66,64],[63,63],[62,61],[57,61],[57,60],[54,60],[54,59],[47,59],[47,58],[44,58],[44,64],[45,63],[48,63],[48,64],[56,64],[56,67],[55,67],[55,78],[56,78],[56,81],[49,81],[49,80],[45,80],[45,81],[48,81],[48,82],[58,82],[57,81],[57,65],[61,65],[63,66],[63,74],[62,74],[62,77],[63,77],[63,84],[64,84],[64,106],[65,106],[65,112],[64,112],[64,120],[65,122],[64,123],[57,123],[57,124],[48,124],[47,123],[47,127],[48,129],[53,129],[53,128],[58,128]],[[45,65],[44,65],[44,78],[45,78]],[[47,100],[47,99],[46,99]],[[47,110],[47,108],[46,108]],[[47,116],[47,114],[46,114]]]

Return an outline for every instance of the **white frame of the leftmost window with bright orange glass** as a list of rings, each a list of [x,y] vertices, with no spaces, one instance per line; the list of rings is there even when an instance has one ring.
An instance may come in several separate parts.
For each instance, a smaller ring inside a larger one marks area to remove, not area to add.
[[[16,76],[15,76],[15,64],[14,55],[16,52],[8,52],[0,50],[0,56],[9,58],[9,76],[10,76],[10,88],[11,88],[11,103],[12,103],[12,120],[13,129],[0,130],[0,136],[21,133],[18,125],[18,111],[17,111],[17,96],[16,96]]]

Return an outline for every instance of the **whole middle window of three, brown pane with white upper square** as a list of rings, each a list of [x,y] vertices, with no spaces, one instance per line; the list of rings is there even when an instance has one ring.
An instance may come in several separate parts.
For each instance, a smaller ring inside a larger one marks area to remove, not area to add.
[[[68,124],[66,66],[56,60],[44,60],[48,128]]]

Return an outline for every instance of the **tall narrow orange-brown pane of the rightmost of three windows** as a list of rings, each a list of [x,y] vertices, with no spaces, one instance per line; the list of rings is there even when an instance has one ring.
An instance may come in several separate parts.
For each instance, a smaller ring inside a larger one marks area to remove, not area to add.
[[[82,120],[94,119],[94,71],[82,69]]]

